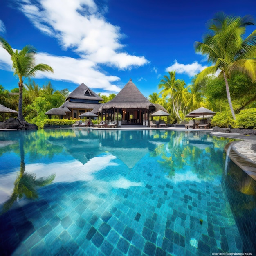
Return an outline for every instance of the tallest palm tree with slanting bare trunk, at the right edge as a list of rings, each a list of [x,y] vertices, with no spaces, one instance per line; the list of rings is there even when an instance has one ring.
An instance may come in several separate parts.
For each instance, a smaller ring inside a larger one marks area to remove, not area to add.
[[[195,42],[195,51],[207,55],[208,61],[213,64],[200,72],[196,83],[220,71],[219,76],[224,78],[229,108],[234,119],[236,117],[228,84],[232,71],[241,71],[252,80],[256,78],[256,30],[243,39],[248,25],[255,25],[251,16],[233,17],[223,12],[216,13],[209,22],[209,33],[204,36],[203,43]]]

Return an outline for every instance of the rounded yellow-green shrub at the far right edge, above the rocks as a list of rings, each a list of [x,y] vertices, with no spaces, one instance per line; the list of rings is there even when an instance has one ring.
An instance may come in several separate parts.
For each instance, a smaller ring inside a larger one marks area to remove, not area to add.
[[[240,113],[236,115],[236,121],[242,128],[256,128],[256,108],[241,110]]]

